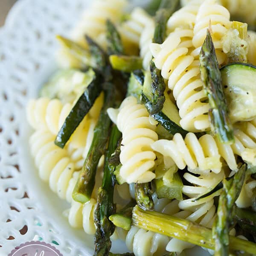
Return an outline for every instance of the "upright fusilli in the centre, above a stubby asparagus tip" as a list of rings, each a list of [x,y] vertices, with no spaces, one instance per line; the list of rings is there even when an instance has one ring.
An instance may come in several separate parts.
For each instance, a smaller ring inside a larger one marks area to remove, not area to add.
[[[120,175],[128,184],[148,182],[155,177],[151,168],[156,155],[150,146],[158,136],[156,125],[149,122],[148,116],[146,108],[134,96],[127,97],[119,108],[116,125],[122,132]]]

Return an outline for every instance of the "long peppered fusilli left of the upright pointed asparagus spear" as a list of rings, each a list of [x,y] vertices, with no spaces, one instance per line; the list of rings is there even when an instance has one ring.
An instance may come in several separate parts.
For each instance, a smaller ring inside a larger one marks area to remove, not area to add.
[[[200,78],[199,62],[189,54],[193,31],[176,29],[163,44],[151,44],[154,63],[168,79],[181,117],[180,125],[187,131],[209,130],[209,103]]]

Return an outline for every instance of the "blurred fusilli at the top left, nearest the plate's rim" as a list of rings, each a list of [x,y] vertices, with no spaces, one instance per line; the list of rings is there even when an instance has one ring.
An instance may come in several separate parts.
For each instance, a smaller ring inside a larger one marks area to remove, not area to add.
[[[87,47],[84,35],[96,39],[106,31],[107,19],[116,23],[122,16],[122,10],[127,5],[125,0],[94,0],[90,8],[81,15],[81,20],[71,33],[71,38]]]

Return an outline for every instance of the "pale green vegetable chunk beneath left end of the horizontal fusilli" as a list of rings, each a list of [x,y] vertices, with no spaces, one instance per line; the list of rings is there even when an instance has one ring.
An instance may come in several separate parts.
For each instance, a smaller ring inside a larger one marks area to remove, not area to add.
[[[168,183],[164,181],[164,178],[155,180],[157,198],[176,198],[182,200],[182,188],[183,183],[178,172],[173,175],[172,180]]]

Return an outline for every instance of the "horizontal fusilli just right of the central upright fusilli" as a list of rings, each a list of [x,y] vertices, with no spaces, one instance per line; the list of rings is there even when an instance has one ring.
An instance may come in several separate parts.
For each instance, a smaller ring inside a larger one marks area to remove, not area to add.
[[[209,134],[199,139],[193,133],[188,133],[185,139],[175,134],[173,140],[158,140],[151,147],[164,156],[172,157],[179,169],[188,166],[194,173],[207,174],[210,170],[219,173],[222,166],[220,157],[224,158],[231,170],[237,169],[231,146],[220,143]]]

